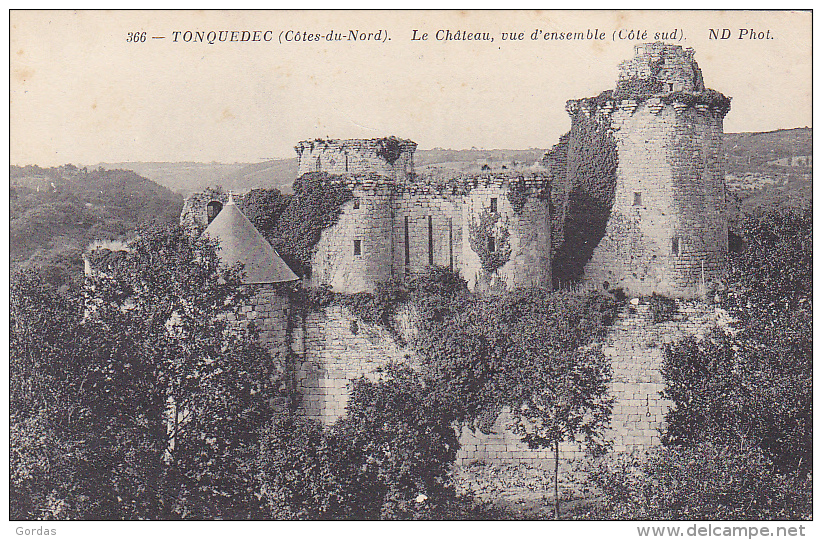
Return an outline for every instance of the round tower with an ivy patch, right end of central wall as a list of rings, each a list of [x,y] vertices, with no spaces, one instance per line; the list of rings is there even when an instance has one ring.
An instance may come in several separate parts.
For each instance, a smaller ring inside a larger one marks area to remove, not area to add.
[[[547,174],[490,173],[463,179],[461,273],[471,290],[551,286]]]

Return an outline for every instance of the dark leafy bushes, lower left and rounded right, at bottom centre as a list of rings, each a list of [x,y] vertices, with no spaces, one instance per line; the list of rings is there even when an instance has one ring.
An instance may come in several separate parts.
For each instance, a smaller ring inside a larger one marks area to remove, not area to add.
[[[327,429],[287,415],[267,428],[258,460],[273,517],[420,519],[455,504],[454,412],[419,375],[358,379],[347,411]]]

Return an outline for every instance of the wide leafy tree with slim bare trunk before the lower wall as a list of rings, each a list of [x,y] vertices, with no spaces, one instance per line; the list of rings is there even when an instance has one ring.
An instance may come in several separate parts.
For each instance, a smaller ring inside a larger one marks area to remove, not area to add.
[[[610,367],[591,345],[613,321],[615,302],[539,288],[492,298],[431,290],[416,300],[428,306],[415,343],[425,373],[453,396],[458,420],[484,430],[508,407],[524,441],[554,450],[558,516],[560,443],[604,445]]]

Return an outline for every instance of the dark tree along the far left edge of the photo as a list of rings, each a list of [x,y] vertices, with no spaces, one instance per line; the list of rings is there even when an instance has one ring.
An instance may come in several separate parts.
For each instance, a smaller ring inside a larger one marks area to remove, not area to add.
[[[85,359],[82,304],[32,271],[12,275],[9,333],[9,515],[77,518],[91,502],[72,430]]]

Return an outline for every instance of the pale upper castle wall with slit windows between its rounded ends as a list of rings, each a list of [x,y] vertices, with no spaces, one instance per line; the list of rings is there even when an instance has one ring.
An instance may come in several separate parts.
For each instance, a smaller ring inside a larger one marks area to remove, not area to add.
[[[481,279],[481,290],[550,285],[547,175],[486,174],[457,178],[448,186],[397,185],[373,174],[345,178],[354,199],[343,206],[338,222],[323,230],[312,257],[310,285],[373,292],[377,283],[431,265],[461,272],[472,290]],[[513,182],[525,186],[527,200],[519,212],[508,198]],[[471,247],[469,218],[476,221],[483,210],[490,211],[492,200],[499,227],[510,235],[511,257],[489,277]]]

